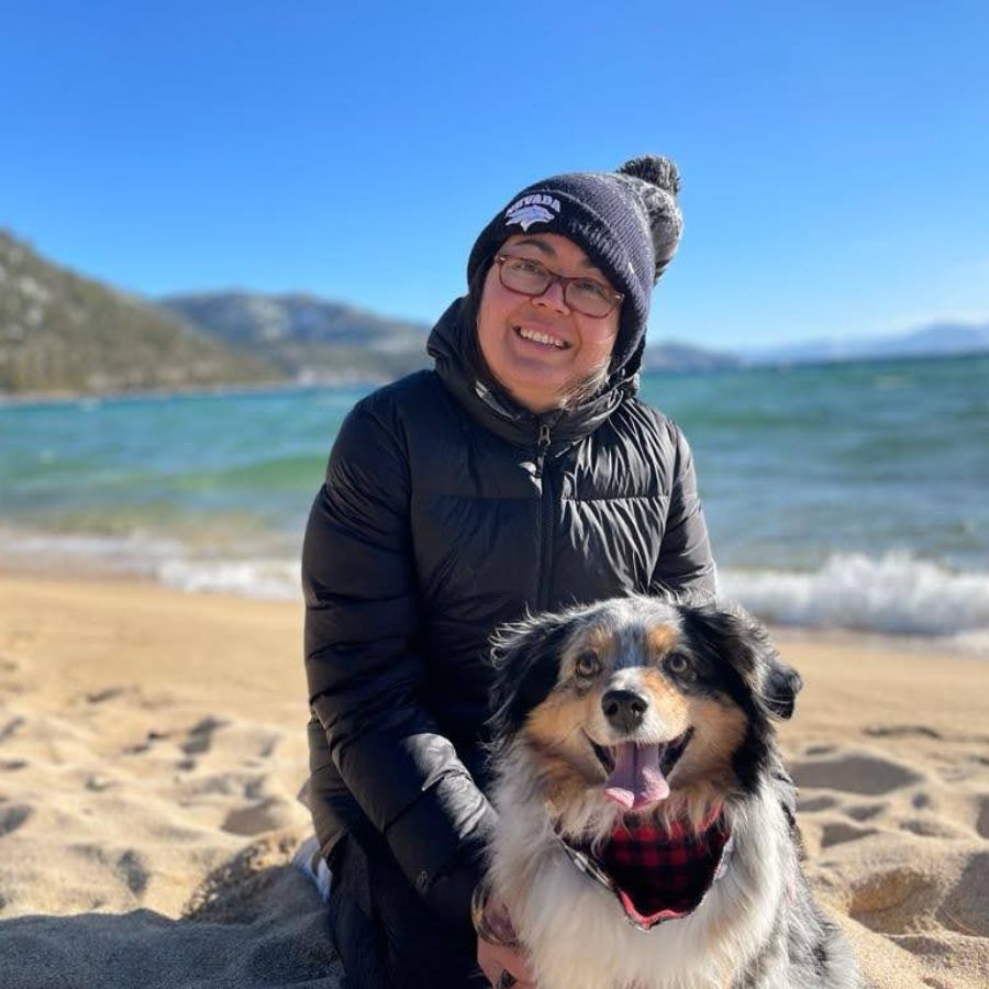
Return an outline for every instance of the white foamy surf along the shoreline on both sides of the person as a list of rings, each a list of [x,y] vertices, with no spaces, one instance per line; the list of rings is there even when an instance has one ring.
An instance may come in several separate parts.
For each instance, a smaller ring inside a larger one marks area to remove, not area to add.
[[[298,556],[258,545],[251,556],[198,556],[178,540],[149,535],[0,526],[0,557],[15,569],[135,574],[189,593],[301,600]],[[989,573],[951,570],[908,552],[838,554],[810,573],[726,568],[719,592],[769,624],[912,636],[989,655]]]

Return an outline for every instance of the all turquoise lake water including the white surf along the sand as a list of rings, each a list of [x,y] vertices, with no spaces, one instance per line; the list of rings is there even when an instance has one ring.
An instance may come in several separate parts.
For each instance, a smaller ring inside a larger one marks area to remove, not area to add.
[[[360,388],[0,407],[9,567],[298,596]],[[989,648],[989,356],[653,375],[725,593],[776,622]]]

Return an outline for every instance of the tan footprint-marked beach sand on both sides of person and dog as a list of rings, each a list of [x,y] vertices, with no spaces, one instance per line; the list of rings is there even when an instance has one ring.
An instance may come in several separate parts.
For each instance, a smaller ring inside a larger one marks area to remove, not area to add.
[[[808,874],[877,987],[989,986],[989,667],[779,632]],[[0,987],[323,987],[301,608],[0,577]]]

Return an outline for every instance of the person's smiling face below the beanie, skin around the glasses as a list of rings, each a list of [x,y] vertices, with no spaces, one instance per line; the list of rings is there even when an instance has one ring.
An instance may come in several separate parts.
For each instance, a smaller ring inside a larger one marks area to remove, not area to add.
[[[609,285],[587,255],[559,234],[516,234],[500,253],[537,260],[556,275]],[[601,318],[577,312],[567,305],[558,282],[542,296],[520,296],[501,284],[494,263],[478,308],[478,345],[491,374],[515,401],[546,412],[608,367],[620,313],[620,305]]]

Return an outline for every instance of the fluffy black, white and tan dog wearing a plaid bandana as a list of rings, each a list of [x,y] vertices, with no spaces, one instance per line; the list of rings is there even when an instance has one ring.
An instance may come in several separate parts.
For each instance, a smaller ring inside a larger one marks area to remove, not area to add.
[[[775,741],[801,679],[754,619],[620,598],[501,631],[492,663],[479,936],[540,989],[860,989]]]

